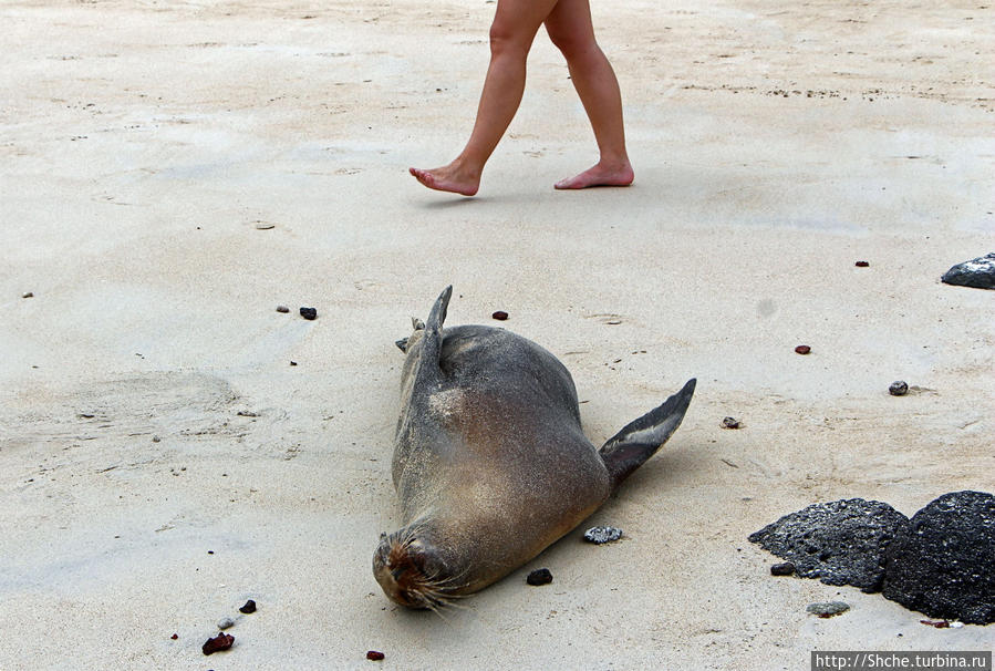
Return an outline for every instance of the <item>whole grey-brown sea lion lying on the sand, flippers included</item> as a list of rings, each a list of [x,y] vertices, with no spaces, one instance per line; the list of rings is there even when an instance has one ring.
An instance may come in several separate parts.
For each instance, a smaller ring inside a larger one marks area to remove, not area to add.
[[[381,534],[373,575],[411,608],[438,610],[529,561],[604,503],[684,419],[695,380],[600,451],[570,373],[504,329],[443,330],[453,288],[406,351],[392,475],[403,528]]]

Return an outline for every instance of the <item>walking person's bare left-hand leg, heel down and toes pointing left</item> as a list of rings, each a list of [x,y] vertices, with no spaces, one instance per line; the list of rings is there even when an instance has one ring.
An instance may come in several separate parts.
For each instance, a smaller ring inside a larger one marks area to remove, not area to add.
[[[464,196],[477,193],[484,164],[521,103],[532,40],[556,3],[557,0],[498,0],[490,27],[490,65],[469,141],[448,165],[431,171],[410,168],[418,182]]]

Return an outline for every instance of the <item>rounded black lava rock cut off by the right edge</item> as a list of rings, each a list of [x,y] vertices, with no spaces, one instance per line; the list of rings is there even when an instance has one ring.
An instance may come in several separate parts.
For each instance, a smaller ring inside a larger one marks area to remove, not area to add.
[[[888,548],[884,598],[931,618],[995,622],[995,496],[944,494]]]

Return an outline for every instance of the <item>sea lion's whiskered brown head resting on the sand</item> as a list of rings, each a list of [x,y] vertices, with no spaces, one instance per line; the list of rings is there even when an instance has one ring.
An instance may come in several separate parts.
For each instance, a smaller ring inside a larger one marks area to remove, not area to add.
[[[381,534],[373,555],[373,576],[392,601],[407,608],[439,610],[459,587],[446,570],[422,525]]]

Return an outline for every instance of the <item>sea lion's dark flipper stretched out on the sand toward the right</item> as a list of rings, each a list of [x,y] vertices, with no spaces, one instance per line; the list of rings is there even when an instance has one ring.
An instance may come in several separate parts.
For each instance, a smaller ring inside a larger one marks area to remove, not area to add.
[[[696,380],[692,378],[663,405],[626,424],[601,447],[599,454],[608,468],[612,489],[642,466],[677,431],[691,404],[695,384]]]

